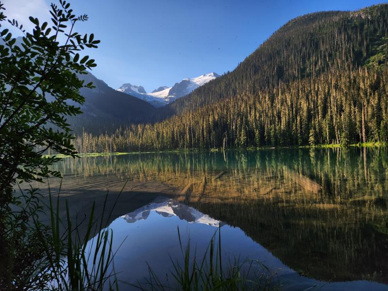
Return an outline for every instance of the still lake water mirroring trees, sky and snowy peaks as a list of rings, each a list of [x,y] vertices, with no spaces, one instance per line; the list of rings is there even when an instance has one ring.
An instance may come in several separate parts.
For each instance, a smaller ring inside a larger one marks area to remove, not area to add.
[[[388,290],[387,147],[142,153],[54,169],[70,206],[129,179],[109,225],[119,280],[144,281],[148,263],[170,284],[179,227],[199,257],[220,229],[224,262],[257,259],[281,290]]]

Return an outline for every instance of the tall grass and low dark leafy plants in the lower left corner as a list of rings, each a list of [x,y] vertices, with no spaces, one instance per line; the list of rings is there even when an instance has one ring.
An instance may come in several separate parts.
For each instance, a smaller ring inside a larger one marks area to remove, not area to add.
[[[8,270],[2,270],[0,290],[118,290],[113,232],[107,228],[113,211],[106,208],[108,193],[101,215],[96,215],[93,203],[88,219],[74,222],[67,201],[65,221],[60,218],[61,190],[56,205],[49,190],[46,208],[50,224],[47,226],[39,219],[44,208],[39,203],[42,197],[38,189],[20,191],[16,207],[21,210],[13,211],[9,218]]]

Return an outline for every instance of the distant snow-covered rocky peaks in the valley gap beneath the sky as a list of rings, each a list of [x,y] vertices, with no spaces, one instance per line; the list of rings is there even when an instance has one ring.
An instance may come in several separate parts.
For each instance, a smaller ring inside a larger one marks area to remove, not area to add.
[[[193,92],[194,89],[211,80],[216,79],[217,77],[219,77],[218,74],[211,72],[196,78],[186,78],[178,83],[175,83],[175,85],[172,87],[161,86],[151,93],[146,93],[146,90],[142,86],[135,86],[131,85],[130,83],[125,83],[121,85],[117,91],[138,97],[139,99],[152,104],[154,107],[162,107],[180,97]]]

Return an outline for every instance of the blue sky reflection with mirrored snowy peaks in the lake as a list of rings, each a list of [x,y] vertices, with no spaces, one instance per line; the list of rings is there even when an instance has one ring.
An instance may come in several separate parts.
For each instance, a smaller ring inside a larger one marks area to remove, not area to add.
[[[204,215],[194,208],[167,198],[157,198],[152,203],[115,219],[113,229],[113,250],[122,243],[114,260],[118,279],[129,283],[143,282],[148,274],[148,263],[162,281],[173,278],[171,259],[181,259],[178,240],[180,236],[185,246],[190,238],[191,246],[196,248],[197,257],[201,258],[211,237],[217,230],[218,221]],[[388,286],[369,281],[351,281],[325,283],[298,275],[285,266],[260,244],[238,227],[223,225],[221,227],[223,260],[233,261],[240,256],[258,259],[275,274],[274,282],[280,282],[282,290],[388,290]],[[122,290],[130,287],[120,283]],[[314,287],[316,286],[316,287]]]

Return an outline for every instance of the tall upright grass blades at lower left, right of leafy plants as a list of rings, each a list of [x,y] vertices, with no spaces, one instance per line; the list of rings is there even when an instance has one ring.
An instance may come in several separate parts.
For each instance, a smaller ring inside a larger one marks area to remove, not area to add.
[[[123,189],[124,187],[125,185]],[[102,214],[96,220],[95,202],[93,202],[85,235],[81,235],[79,229],[83,221],[81,223],[76,221],[75,225],[72,224],[67,201],[66,224],[61,221],[59,217],[59,194],[57,197],[57,205],[54,208],[51,193],[49,193],[52,231],[50,238],[52,241],[48,242],[41,236],[41,242],[46,251],[45,255],[51,266],[51,269],[48,271],[52,272],[54,277],[54,280],[49,284],[50,287],[60,291],[117,290],[118,287],[113,266],[113,231],[112,229],[106,228],[113,210],[110,211],[104,224],[108,193],[105,196]],[[118,197],[119,195],[114,205]],[[55,210],[56,212],[54,212]],[[65,231],[62,235],[60,230],[61,224],[65,226]],[[91,238],[93,238],[92,246],[86,251]],[[53,249],[51,249],[52,246]]]

